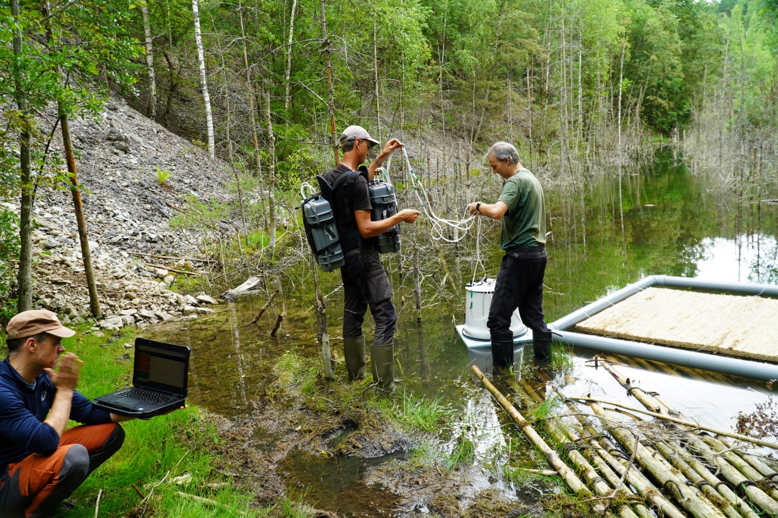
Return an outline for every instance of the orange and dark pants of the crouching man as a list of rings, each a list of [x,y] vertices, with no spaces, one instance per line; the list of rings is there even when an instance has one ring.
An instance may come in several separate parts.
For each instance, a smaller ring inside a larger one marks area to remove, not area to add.
[[[53,454],[31,454],[0,475],[0,516],[50,516],[123,442],[124,430],[114,422],[65,430]]]

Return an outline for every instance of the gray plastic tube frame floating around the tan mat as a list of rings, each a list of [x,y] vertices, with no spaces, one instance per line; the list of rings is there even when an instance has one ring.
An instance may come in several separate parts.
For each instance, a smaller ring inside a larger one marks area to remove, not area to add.
[[[649,343],[633,342],[630,340],[607,338],[598,335],[585,335],[571,332],[579,322],[592,315],[598,314],[617,302],[645,290],[651,286],[689,287],[698,290],[719,290],[737,294],[778,296],[778,286],[772,284],[753,283],[722,283],[716,281],[699,280],[674,276],[647,276],[634,284],[630,284],[621,290],[615,291],[598,301],[587,304],[578,311],[573,311],[548,325],[556,335],[555,338],[570,346],[583,349],[593,349],[604,353],[621,354],[644,360],[654,360],[672,365],[692,367],[696,369],[712,370],[723,374],[750,377],[757,380],[773,380],[778,378],[778,365],[754,360],[742,360],[729,356],[718,356],[713,353],[697,352],[689,349],[677,349],[668,346],[655,346]]]

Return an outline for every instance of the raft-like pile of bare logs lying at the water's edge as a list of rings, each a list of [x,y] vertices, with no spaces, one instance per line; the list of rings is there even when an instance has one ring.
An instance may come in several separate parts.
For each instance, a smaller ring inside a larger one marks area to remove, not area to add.
[[[601,405],[605,402],[562,395],[576,425],[559,416],[544,419],[542,425],[570,466],[478,367],[472,369],[569,488],[584,502],[591,502],[594,513],[612,513],[622,518],[778,517],[776,464],[772,459],[734,447],[727,436],[774,449],[778,449],[778,444],[713,430],[684,419],[661,396],[630,384],[612,363],[603,360],[602,364],[647,408],[631,408],[631,412],[652,415],[654,429],[661,427],[662,432],[651,433],[649,440],[647,434],[640,433],[640,426],[608,415]],[[545,401],[527,381],[510,378],[507,382],[520,408]],[[576,407],[576,403],[584,402],[593,415]],[[637,419],[633,413],[622,413]]]

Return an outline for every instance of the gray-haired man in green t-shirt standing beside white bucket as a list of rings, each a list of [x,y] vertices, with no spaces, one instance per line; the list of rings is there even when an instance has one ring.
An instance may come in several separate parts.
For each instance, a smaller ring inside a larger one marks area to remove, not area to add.
[[[492,362],[513,365],[513,333],[510,318],[518,308],[522,322],[532,329],[535,356],[547,358],[551,332],[543,317],[545,274],[545,206],[538,179],[519,163],[513,144],[497,142],[487,154],[492,172],[505,183],[495,203],[474,202],[470,214],[503,222],[500,246],[505,251],[489,306],[486,325],[492,338]]]

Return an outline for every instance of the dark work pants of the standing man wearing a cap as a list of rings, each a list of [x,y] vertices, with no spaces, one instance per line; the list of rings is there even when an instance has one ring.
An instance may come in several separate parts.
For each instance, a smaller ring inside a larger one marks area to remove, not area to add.
[[[392,289],[377,253],[348,254],[341,268],[343,279],[343,338],[359,338],[364,333],[362,323],[367,307],[376,322],[374,346],[394,342],[397,311],[394,310]]]

